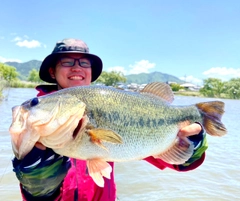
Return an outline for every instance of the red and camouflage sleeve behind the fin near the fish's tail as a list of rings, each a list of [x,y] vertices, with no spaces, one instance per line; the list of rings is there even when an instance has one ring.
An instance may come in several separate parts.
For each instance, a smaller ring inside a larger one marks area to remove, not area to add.
[[[184,164],[181,164],[181,165],[168,164],[163,160],[156,159],[152,156],[147,157],[144,160],[153,164],[154,166],[158,167],[161,170],[167,167],[177,171],[193,170],[203,163],[205,159],[205,151],[208,145],[207,145],[206,134],[204,130],[202,130],[201,133],[199,133],[198,135],[193,135],[188,138],[194,143],[195,148],[194,148],[193,155]]]

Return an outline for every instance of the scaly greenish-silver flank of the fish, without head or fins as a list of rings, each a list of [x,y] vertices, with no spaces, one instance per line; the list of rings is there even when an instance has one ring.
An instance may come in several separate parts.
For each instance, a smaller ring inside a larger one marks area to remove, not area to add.
[[[92,90],[91,93],[89,88]],[[136,154],[129,153],[138,153],[137,159],[156,153],[156,150],[159,154],[176,139],[179,130],[176,123],[184,122],[189,117],[190,122],[201,122],[201,116],[194,106],[170,107],[161,99],[139,93],[123,93],[123,91],[106,87],[89,88],[79,88],[81,91],[78,93],[74,88],[68,93],[72,93],[86,103],[87,111],[91,111],[89,112],[90,122],[95,127],[113,130],[122,137],[123,143],[103,142],[109,150],[106,151],[93,144],[89,136],[85,135],[86,138],[79,142],[75,139],[79,147],[78,157],[82,159],[88,159],[87,153],[90,152],[95,157],[103,157],[108,161],[136,158]],[[135,155],[135,158],[132,155]]]

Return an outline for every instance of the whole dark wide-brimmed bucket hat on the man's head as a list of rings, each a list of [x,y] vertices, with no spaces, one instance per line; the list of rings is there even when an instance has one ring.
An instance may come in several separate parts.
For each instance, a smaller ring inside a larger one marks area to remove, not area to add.
[[[89,48],[85,42],[70,38],[58,41],[52,53],[43,60],[39,70],[39,77],[43,81],[56,83],[56,80],[53,79],[49,73],[49,68],[55,67],[60,54],[66,53],[81,53],[85,54],[86,57],[90,59],[92,68],[91,82],[94,82],[102,73],[102,60],[97,55],[89,53]]]

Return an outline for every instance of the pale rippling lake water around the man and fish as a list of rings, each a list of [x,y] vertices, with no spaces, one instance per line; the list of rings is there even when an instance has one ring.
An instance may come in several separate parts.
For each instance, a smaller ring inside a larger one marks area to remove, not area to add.
[[[0,102],[0,197],[19,201],[19,184],[12,172],[13,158],[8,128],[11,108],[35,96],[34,89],[8,89]],[[173,104],[189,105],[216,99],[176,96]],[[158,170],[145,161],[117,163],[115,177],[120,201],[202,201],[240,198],[240,101],[225,102],[222,121],[228,129],[224,137],[208,135],[209,148],[204,163],[196,170],[180,173]]]

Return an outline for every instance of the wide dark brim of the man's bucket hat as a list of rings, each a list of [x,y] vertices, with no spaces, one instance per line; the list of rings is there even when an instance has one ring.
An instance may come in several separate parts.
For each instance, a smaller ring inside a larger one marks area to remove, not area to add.
[[[59,57],[60,54],[66,54],[66,53],[78,53],[78,54],[84,54],[91,60],[91,68],[92,68],[92,79],[91,82],[94,82],[102,73],[102,60],[94,55],[89,53],[82,53],[79,51],[60,51],[57,53],[52,53],[48,55],[42,62],[39,70],[39,77],[41,80],[48,82],[48,83],[56,83],[56,80],[53,79],[49,73],[49,68],[54,67],[56,65],[56,60]]]

